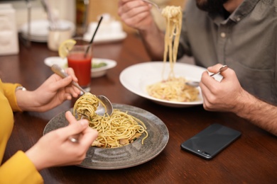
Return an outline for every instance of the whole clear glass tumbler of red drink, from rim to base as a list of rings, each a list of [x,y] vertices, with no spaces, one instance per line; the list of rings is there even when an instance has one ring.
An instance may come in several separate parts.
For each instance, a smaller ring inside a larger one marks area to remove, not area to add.
[[[78,79],[78,84],[90,91],[90,76],[92,68],[92,45],[80,38],[72,38],[76,44],[67,54],[67,64],[71,67]]]

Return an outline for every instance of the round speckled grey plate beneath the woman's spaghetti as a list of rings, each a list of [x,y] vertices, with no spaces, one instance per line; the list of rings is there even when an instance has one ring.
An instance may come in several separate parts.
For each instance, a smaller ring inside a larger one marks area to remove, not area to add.
[[[77,166],[99,170],[113,170],[138,166],[158,156],[168,143],[168,129],[156,115],[131,105],[117,103],[113,103],[112,105],[115,113],[116,111],[125,113],[122,121],[126,121],[128,115],[134,117],[135,120],[143,122],[147,133],[141,132],[141,136],[134,140],[134,142],[124,146],[92,146],[87,151],[85,160]],[[73,112],[73,108],[70,110]],[[117,116],[116,119],[119,121],[121,117]],[[91,121],[89,120],[89,126],[90,123]],[[68,122],[65,119],[65,112],[60,113],[48,122],[43,134],[67,125]],[[105,139],[108,138],[106,137]]]

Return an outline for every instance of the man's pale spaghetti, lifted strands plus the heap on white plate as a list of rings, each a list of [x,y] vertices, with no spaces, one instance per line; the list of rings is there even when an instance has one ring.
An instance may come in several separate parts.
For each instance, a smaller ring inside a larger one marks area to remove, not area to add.
[[[177,78],[174,73],[174,64],[177,60],[180,30],[182,26],[182,10],[180,6],[166,6],[163,8],[162,15],[166,20],[162,79],[167,58],[169,59],[170,72],[168,74],[168,79],[163,79],[161,82],[147,86],[146,91],[148,91],[150,96],[163,100],[177,102],[197,100],[199,94],[197,88],[185,85],[186,79],[183,77]]]

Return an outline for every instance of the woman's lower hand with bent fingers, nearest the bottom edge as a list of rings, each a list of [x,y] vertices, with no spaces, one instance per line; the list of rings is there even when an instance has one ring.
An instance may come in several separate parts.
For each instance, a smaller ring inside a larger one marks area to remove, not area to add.
[[[45,134],[31,149],[26,151],[26,155],[38,171],[52,166],[82,163],[87,149],[97,138],[98,132],[88,126],[87,120],[77,121],[69,111],[65,113],[65,117],[70,125]],[[69,137],[75,134],[80,134],[78,143],[69,140]]]

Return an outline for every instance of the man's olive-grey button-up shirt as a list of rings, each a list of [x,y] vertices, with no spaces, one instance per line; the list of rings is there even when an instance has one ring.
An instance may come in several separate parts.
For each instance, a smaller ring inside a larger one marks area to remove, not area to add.
[[[227,64],[246,91],[277,104],[276,0],[244,0],[227,18],[189,0],[182,25],[178,57],[193,56],[202,67]]]

